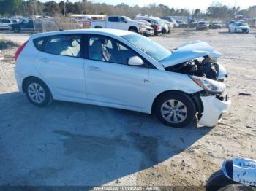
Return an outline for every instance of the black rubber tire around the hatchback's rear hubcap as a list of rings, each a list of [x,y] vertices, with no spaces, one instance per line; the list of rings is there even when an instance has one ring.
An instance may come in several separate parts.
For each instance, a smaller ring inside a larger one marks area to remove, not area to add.
[[[30,95],[30,93],[29,93],[29,88],[31,88],[30,87],[30,85],[39,85],[40,87],[42,87],[42,89],[43,89],[43,91],[44,91],[44,98],[42,98],[42,102],[39,102],[39,103],[37,103],[36,101],[34,101],[32,98],[31,98],[31,95]],[[40,107],[42,107],[42,106],[48,106],[49,104],[51,104],[51,102],[53,101],[53,96],[52,96],[52,94],[50,93],[50,90],[49,90],[49,88],[47,87],[47,85],[45,85],[45,83],[44,82],[42,82],[42,80],[40,80],[40,79],[37,79],[37,78],[31,78],[31,79],[29,79],[29,80],[27,80],[26,82],[25,82],[25,86],[24,86],[24,90],[25,90],[25,93],[26,93],[26,96],[27,96],[27,98],[29,99],[29,101],[32,103],[32,104],[34,104],[35,106],[40,106]]]

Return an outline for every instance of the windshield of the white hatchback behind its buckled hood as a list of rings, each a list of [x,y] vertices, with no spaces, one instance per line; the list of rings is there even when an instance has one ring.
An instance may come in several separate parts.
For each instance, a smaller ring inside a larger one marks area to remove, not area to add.
[[[135,47],[138,47],[140,50],[157,61],[162,61],[172,54],[169,50],[157,44],[157,42],[154,42],[145,36],[141,36],[140,34],[124,35],[121,36],[121,38],[125,39]]]

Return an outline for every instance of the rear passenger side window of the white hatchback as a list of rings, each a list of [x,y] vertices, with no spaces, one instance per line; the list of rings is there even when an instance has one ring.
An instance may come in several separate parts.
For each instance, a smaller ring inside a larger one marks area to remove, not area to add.
[[[41,43],[43,44],[43,42],[38,41],[38,45]],[[53,55],[67,55],[80,58],[80,43],[80,35],[50,36],[43,51]]]

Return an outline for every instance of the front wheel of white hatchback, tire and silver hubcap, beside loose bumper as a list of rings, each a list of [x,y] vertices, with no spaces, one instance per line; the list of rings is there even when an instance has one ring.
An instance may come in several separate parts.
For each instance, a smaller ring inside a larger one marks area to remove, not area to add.
[[[169,92],[160,95],[154,106],[157,118],[165,125],[184,128],[195,118],[195,103],[185,93]]]

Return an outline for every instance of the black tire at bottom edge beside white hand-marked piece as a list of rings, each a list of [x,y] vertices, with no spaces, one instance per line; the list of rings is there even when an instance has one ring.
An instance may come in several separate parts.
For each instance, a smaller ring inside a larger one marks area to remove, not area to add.
[[[239,184],[231,179],[228,179],[222,170],[219,170],[211,175],[206,184],[206,191],[217,191],[222,187],[227,187],[231,184]]]

